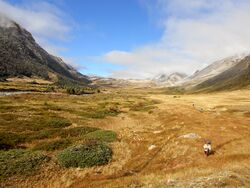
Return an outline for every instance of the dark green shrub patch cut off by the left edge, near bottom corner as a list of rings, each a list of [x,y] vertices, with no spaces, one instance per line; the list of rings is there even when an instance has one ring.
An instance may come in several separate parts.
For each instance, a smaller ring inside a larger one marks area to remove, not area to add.
[[[0,151],[0,178],[31,175],[49,158],[40,152],[23,149]]]

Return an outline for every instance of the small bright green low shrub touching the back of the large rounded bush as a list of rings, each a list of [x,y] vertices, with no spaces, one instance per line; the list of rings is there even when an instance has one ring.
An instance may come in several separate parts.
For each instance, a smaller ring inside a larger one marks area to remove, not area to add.
[[[84,136],[84,138],[99,140],[103,142],[114,142],[117,138],[117,135],[113,131],[97,130],[97,131],[88,133],[87,135]]]

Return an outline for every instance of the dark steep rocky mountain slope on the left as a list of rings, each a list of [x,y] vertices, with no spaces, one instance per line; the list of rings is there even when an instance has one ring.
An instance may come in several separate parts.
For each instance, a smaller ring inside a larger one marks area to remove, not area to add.
[[[16,22],[0,15],[0,77],[38,76],[89,83],[60,58],[41,48],[31,33]]]

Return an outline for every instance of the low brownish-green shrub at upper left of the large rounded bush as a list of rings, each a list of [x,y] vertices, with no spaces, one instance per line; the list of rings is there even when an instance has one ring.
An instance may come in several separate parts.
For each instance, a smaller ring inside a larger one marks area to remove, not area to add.
[[[64,149],[71,144],[72,142],[69,139],[60,139],[49,142],[41,142],[37,144],[33,150],[54,151]]]

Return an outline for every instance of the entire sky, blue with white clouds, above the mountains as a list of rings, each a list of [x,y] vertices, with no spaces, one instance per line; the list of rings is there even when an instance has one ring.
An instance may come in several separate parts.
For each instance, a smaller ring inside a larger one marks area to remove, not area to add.
[[[0,13],[83,74],[192,74],[250,50],[249,0],[0,0]]]

